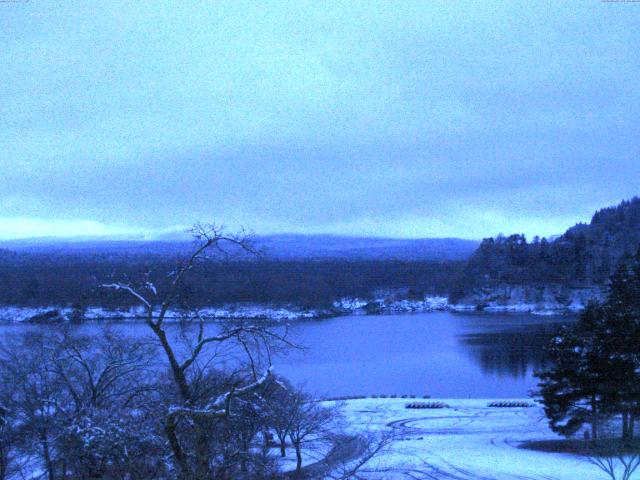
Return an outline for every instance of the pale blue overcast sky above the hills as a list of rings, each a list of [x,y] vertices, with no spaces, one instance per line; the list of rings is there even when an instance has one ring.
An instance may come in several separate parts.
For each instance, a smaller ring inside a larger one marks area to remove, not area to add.
[[[548,236],[640,194],[640,3],[0,2],[0,239]]]

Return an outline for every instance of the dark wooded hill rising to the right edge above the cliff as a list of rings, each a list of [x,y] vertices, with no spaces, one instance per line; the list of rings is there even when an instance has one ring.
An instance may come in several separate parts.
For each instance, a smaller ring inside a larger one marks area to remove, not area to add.
[[[593,215],[557,239],[524,235],[482,241],[460,275],[452,297],[476,287],[507,284],[558,283],[566,286],[604,285],[620,259],[640,245],[640,198],[634,197]]]

